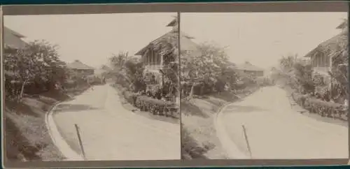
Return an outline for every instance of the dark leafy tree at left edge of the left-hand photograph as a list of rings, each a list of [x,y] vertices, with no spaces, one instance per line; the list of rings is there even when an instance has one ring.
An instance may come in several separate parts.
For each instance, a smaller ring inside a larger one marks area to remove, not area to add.
[[[3,64],[7,72],[6,90],[8,94],[18,94],[20,91],[18,98],[22,98],[28,86],[43,92],[55,89],[55,84],[66,80],[66,64],[59,59],[57,45],[47,41],[28,43],[20,50],[6,50]]]

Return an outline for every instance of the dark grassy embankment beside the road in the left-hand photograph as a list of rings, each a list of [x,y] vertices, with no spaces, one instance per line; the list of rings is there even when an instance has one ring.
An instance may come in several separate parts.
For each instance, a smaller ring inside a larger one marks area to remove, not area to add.
[[[69,91],[75,96],[84,89]],[[57,101],[70,97],[59,92],[25,96],[22,101],[4,105],[6,157],[10,161],[61,161],[64,156],[55,147],[45,126],[45,115]]]

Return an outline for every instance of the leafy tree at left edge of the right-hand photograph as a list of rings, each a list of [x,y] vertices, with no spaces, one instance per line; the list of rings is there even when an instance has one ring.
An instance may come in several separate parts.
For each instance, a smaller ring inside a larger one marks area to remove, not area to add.
[[[228,73],[233,71],[228,68],[229,62],[225,48],[214,43],[202,43],[198,45],[198,48],[201,52],[200,55],[190,52],[181,53],[182,79],[188,81],[192,86],[190,97],[194,87],[198,84],[202,84],[202,94],[204,91],[212,91],[213,88],[222,91],[225,87],[224,80],[229,78]]]

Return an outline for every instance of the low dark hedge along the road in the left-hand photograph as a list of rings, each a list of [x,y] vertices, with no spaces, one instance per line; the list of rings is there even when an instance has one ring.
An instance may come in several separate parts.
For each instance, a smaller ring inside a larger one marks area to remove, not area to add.
[[[153,115],[174,117],[179,119],[179,108],[170,101],[162,101],[156,98],[132,93],[124,89],[123,96],[127,102],[131,103],[141,111],[151,112]]]

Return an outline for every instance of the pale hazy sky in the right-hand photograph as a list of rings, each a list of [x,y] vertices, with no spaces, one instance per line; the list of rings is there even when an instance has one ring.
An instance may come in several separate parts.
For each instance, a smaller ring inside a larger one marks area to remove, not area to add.
[[[181,29],[197,43],[223,47],[230,60],[268,68],[284,54],[304,56],[339,34],[347,13],[182,13]]]

